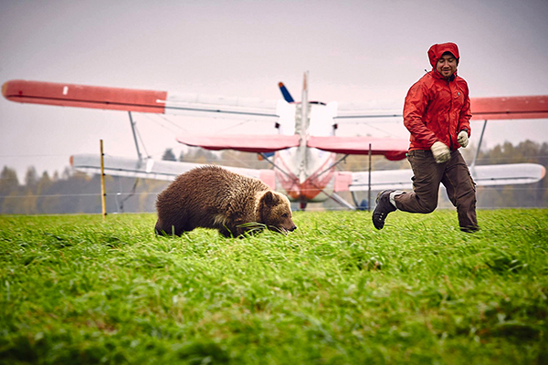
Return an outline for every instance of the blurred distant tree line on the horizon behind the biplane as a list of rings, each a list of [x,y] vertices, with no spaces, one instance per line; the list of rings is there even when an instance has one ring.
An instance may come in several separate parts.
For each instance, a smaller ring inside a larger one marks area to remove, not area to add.
[[[475,149],[463,150],[467,161]],[[342,157],[342,155],[340,156]],[[191,149],[175,158],[174,152],[167,149],[163,160],[196,163],[216,163],[253,169],[268,169],[269,162],[260,161],[257,154],[238,151],[211,152]],[[409,168],[406,160],[388,162],[374,156],[374,170]],[[498,163],[531,162],[548,168],[548,143],[539,144],[522,141],[517,145],[505,142],[479,153],[478,165]],[[339,169],[347,171],[367,171],[367,156],[348,156]],[[153,212],[156,195],[167,186],[167,182],[106,176],[107,212]],[[362,193],[362,197],[364,194]],[[343,195],[352,202],[350,193]],[[327,209],[338,205],[328,201],[322,204]],[[548,207],[548,178],[539,183],[523,185],[502,185],[500,187],[478,187],[478,207]],[[62,173],[41,175],[34,167],[26,171],[20,183],[16,171],[4,166],[0,173],[0,214],[99,214],[100,176],[89,176],[73,172],[68,167]]]

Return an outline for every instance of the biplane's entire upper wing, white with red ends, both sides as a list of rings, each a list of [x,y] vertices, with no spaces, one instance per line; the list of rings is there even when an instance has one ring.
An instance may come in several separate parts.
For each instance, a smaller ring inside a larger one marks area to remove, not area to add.
[[[9,80],[2,85],[5,99],[34,104],[104,110],[179,114],[188,111],[277,117],[280,100],[227,98],[167,91],[107,88],[56,82]],[[472,119],[508,120],[548,118],[548,96],[470,99]],[[401,109],[379,102],[337,103],[336,119],[401,117]]]

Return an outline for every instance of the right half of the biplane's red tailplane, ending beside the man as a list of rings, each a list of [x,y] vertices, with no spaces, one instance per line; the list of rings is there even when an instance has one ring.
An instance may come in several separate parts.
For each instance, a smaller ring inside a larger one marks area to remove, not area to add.
[[[316,137],[311,136],[308,147],[323,151],[344,154],[368,154],[371,143],[371,154],[384,155],[391,161],[402,160],[406,157],[409,141],[371,137]]]

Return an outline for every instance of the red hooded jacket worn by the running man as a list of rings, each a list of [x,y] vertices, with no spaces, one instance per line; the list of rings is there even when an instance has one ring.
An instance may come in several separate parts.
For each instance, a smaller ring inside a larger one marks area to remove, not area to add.
[[[470,136],[470,99],[468,84],[457,76],[444,78],[436,70],[437,60],[445,52],[459,59],[454,43],[434,45],[428,49],[432,70],[409,89],[404,104],[404,124],[411,132],[409,151],[429,150],[435,141],[445,143],[453,151],[460,146],[458,132]]]

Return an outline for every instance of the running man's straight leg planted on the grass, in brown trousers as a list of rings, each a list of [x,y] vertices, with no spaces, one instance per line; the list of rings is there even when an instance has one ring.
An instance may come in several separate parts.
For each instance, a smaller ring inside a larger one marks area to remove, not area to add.
[[[464,232],[479,229],[476,217],[476,184],[459,151],[451,152],[446,172],[441,180],[448,191],[448,198],[457,207],[458,225]]]

